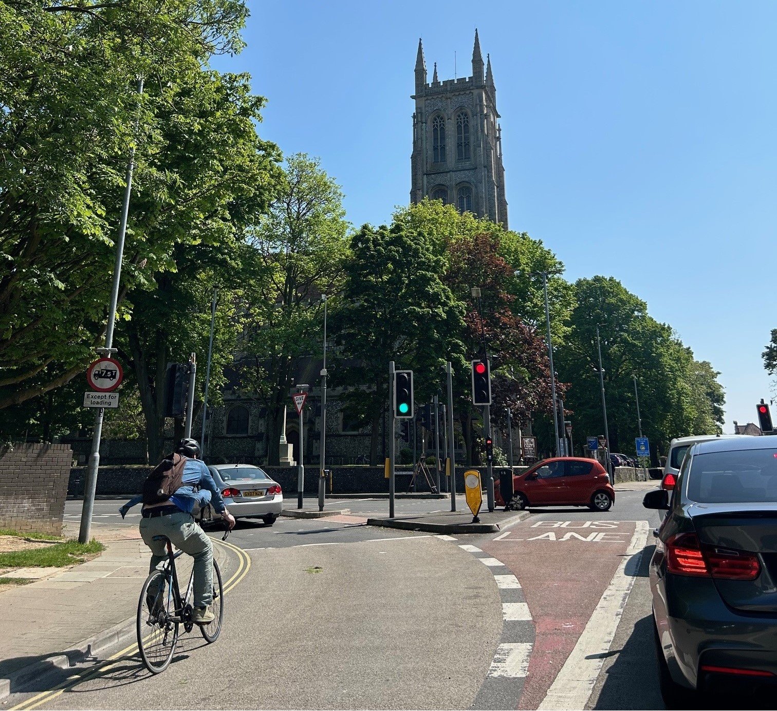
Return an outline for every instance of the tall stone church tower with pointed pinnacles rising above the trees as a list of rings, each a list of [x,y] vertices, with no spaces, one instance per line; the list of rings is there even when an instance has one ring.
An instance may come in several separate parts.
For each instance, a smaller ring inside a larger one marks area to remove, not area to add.
[[[435,63],[427,84],[427,64],[418,40],[416,93],[411,98],[416,99],[416,113],[410,201],[444,200],[507,229],[497,89],[490,58],[483,75],[477,30],[472,76],[444,82],[437,78]]]

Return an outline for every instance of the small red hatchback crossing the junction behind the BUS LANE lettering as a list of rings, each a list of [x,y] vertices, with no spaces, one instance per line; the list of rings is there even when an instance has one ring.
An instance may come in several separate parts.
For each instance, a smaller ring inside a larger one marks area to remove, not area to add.
[[[495,487],[496,500],[505,506],[503,486]],[[605,468],[595,459],[559,457],[544,459],[528,472],[513,476],[511,508],[530,506],[587,506],[608,511],[615,502],[615,490]]]

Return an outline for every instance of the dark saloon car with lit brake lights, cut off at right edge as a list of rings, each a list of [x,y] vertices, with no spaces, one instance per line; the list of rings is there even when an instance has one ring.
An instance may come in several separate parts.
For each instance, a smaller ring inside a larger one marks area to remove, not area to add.
[[[669,496],[643,501],[667,509],[650,561],[664,701],[777,692],[777,437],[693,444]]]

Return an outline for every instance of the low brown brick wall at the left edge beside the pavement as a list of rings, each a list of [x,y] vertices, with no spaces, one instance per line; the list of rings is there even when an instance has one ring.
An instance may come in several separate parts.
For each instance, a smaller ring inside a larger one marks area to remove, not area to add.
[[[0,449],[0,528],[61,535],[72,458],[68,444]]]

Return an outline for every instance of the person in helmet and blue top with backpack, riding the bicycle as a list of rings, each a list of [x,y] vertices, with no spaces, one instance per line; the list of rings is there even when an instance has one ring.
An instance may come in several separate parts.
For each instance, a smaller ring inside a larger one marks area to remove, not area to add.
[[[221,491],[208,471],[207,465],[200,459],[200,444],[197,440],[184,439],[178,445],[179,455],[186,457],[183,467],[183,486],[162,504],[144,504],[141,519],[141,537],[151,549],[150,573],[162,566],[166,559],[166,543],[154,540],[155,536],[169,538],[177,549],[188,553],[194,559],[194,599],[192,620],[198,625],[213,622],[211,612],[213,601],[213,542],[205,535],[192,516],[194,504],[200,507],[211,504],[217,514],[221,514],[230,530],[235,528],[235,517],[230,514],[221,498]],[[134,497],[120,508],[121,516],[135,504],[140,504],[142,496]],[[155,597],[156,591],[149,590]]]

